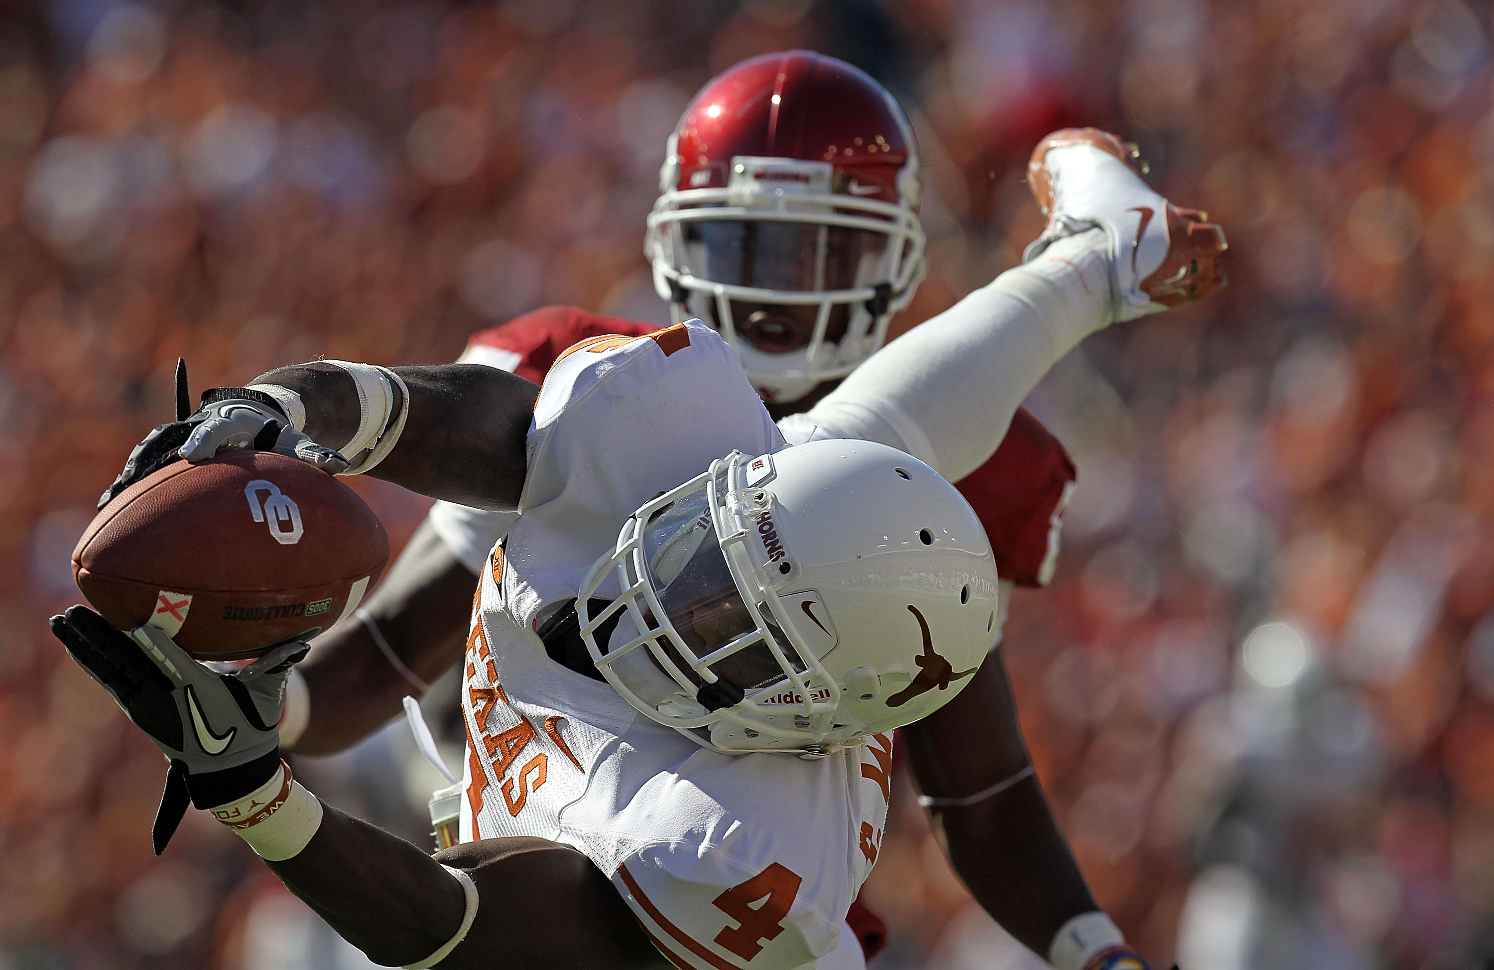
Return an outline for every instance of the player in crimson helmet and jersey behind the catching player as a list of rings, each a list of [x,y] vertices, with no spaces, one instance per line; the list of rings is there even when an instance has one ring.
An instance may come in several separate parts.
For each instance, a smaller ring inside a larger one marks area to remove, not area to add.
[[[792,414],[877,350],[922,277],[917,154],[905,118],[846,64],[804,52],[756,58],[702,88],[669,139],[660,181],[647,235],[660,296],[677,320],[699,315],[717,327],[769,413],[792,427]],[[566,347],[651,329],[545,308],[475,335],[460,360],[541,383]],[[989,441],[999,429],[970,433]],[[1013,583],[1038,586],[1052,572],[1074,468],[1025,411],[999,439],[958,487],[992,538],[1004,611]],[[512,520],[444,502],[432,511],[360,622],[327,634],[303,665],[305,682],[293,682],[282,737],[297,752],[357,741],[460,656],[474,575]],[[991,862],[1008,855],[998,837],[1007,822],[989,800],[968,798],[1028,765],[999,664],[904,740],[956,870],[992,916],[1046,954],[1052,930],[1013,912],[994,885]],[[1067,847],[1052,852],[1044,864],[1073,868]],[[861,907],[852,919],[870,957],[877,921]]]

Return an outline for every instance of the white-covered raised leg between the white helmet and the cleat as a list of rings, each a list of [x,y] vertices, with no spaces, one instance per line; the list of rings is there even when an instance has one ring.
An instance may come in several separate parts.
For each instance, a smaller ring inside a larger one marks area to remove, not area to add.
[[[1104,232],[1061,239],[887,344],[807,414],[786,418],[786,435],[814,426],[816,436],[878,441],[959,481],[995,453],[1047,369],[1110,323],[1112,308]]]

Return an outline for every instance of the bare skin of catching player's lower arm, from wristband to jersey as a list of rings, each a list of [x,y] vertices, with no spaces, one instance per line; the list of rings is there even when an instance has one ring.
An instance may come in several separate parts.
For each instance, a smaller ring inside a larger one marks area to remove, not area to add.
[[[324,804],[306,847],[267,865],[345,940],[397,967],[436,952],[462,925],[466,897],[438,861],[478,889],[472,927],[442,970],[669,967],[592,861],[544,838],[486,838],[432,858]]]

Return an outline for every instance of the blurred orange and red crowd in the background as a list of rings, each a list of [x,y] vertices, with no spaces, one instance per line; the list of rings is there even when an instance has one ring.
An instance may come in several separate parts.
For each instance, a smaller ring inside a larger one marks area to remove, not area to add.
[[[899,327],[1017,262],[1055,127],[1135,140],[1228,230],[1225,293],[1029,402],[1080,477],[1005,655],[1103,904],[1161,967],[1494,966],[1491,30],[1460,0],[6,0],[0,969],[369,966],[200,813],[151,855],[161,758],[45,628],[73,543],[178,354],[196,393],[451,360],[544,303],[663,320],[665,138],[790,46],[914,117]],[[424,513],[359,487],[397,541]],[[296,770],[426,844],[402,725]],[[872,970],[1037,966],[899,792]]]

